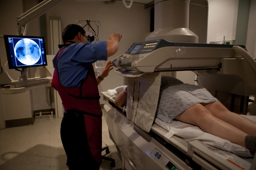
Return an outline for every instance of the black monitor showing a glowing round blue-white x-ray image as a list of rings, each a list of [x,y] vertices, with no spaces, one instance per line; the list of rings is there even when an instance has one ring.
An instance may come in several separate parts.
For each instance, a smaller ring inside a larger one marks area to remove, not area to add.
[[[44,37],[4,35],[9,69],[47,65]]]

